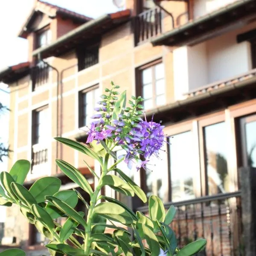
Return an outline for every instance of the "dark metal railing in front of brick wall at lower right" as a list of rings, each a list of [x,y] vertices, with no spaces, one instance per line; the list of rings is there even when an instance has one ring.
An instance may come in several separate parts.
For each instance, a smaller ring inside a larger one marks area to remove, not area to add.
[[[171,227],[180,247],[205,238],[207,247],[200,256],[243,255],[240,191],[169,203],[165,208],[171,205],[177,208]],[[138,210],[147,213],[148,207]]]

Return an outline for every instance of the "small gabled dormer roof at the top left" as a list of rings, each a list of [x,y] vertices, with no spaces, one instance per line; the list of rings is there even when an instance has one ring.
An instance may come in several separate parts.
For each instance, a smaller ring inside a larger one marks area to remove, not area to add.
[[[60,15],[61,17],[70,18],[73,21],[76,21],[78,23],[85,23],[89,20],[92,20],[92,18],[87,17],[85,15],[81,15],[79,13],[72,12],[70,10],[61,8],[56,5],[52,5],[50,3],[43,2],[41,0],[36,0],[33,9],[31,10],[29,16],[27,17],[25,23],[23,24],[23,26],[18,34],[19,37],[21,37],[21,38],[27,37],[27,35],[28,35],[27,31],[29,30],[29,26],[35,20],[35,17],[37,16],[38,12],[45,13],[50,18],[55,18],[56,15]]]

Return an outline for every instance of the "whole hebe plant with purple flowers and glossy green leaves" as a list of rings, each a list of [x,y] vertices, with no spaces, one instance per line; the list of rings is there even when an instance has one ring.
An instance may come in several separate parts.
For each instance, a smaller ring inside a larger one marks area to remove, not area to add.
[[[117,97],[118,88],[112,83],[111,89],[105,89],[107,94],[102,95],[98,102],[100,107],[96,108],[98,113],[93,116],[95,121],[88,132],[87,143],[90,146],[66,138],[55,138],[99,162],[99,176],[85,162],[98,181],[93,191],[78,169],[64,160],[56,160],[61,171],[89,194],[90,204],[76,189],[59,191],[61,180],[57,177],[42,177],[27,190],[23,186],[30,169],[27,160],[18,160],[10,172],[0,174],[0,204],[7,207],[17,204],[29,223],[50,240],[46,247],[52,256],[194,255],[204,249],[206,240],[198,239],[181,249],[177,247],[175,233],[169,227],[175,216],[175,207],[166,212],[162,201],[152,195],[148,200],[147,216],[141,212],[134,213],[122,202],[99,193],[104,186],[110,186],[127,196],[137,195],[146,203],[143,190],[117,165],[125,161],[129,167],[135,164],[137,169],[146,168],[150,157],[158,157],[165,141],[163,126],[153,122],[153,119],[148,122],[141,118],[143,99],[132,97],[127,107],[126,92]],[[119,159],[114,152],[117,146],[126,152]],[[111,158],[115,162],[110,166]],[[74,209],[79,200],[87,207],[86,218],[84,212]],[[59,217],[67,218],[63,225],[55,221]],[[82,243],[79,243],[78,237],[81,237]],[[20,249],[0,253],[0,256],[23,255],[25,252]]]

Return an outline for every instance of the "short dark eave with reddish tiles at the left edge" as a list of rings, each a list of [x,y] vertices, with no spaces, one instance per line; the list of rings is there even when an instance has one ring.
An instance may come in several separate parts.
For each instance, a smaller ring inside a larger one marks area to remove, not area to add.
[[[30,62],[22,62],[0,70],[0,82],[9,84],[29,74]]]

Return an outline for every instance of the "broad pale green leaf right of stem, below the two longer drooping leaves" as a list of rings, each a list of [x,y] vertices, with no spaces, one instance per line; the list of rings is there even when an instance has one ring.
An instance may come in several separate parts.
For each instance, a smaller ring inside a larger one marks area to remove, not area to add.
[[[104,218],[120,222],[124,225],[129,225],[133,222],[131,215],[123,207],[110,202],[97,204],[94,208],[94,214],[99,214]]]

